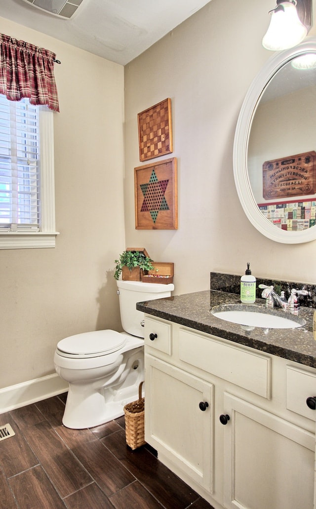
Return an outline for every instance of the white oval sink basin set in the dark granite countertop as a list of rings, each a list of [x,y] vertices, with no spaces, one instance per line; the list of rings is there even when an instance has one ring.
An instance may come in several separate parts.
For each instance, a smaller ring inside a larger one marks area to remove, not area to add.
[[[227,309],[223,308],[225,306],[218,306],[220,310],[216,310],[214,308],[211,313],[216,318],[220,318],[221,320],[226,320],[226,322],[238,323],[240,325],[246,325],[248,327],[264,327],[266,329],[293,329],[295,327],[301,327],[305,325],[305,320],[292,317],[292,316],[283,316],[271,314],[267,312],[267,310],[260,308],[259,306],[254,306],[253,310],[248,309],[245,310],[245,306],[237,305],[229,305]],[[217,308],[218,309],[218,308]]]

